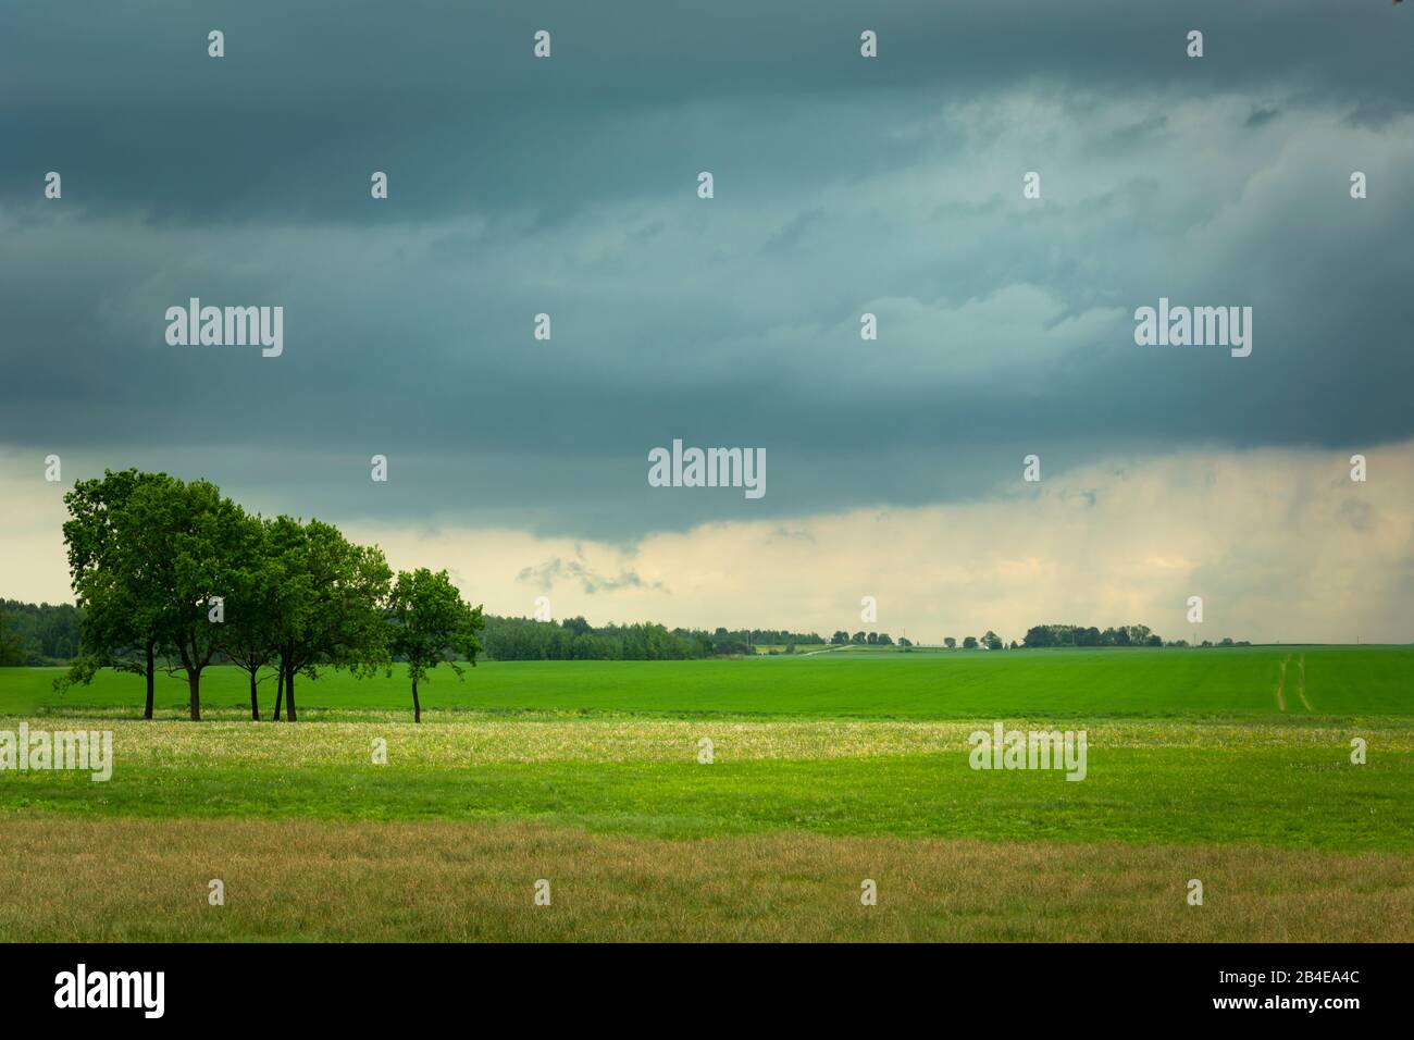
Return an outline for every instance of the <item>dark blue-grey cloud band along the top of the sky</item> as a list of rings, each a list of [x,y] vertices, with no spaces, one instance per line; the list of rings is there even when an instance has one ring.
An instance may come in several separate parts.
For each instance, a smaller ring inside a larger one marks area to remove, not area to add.
[[[3,198],[27,201],[47,163],[69,170],[76,205],[201,224],[366,226],[658,194],[693,153],[731,150],[731,123],[680,119],[704,103],[765,122],[778,99],[814,98],[827,113],[872,98],[885,119],[836,127],[854,146],[887,137],[896,92],[959,100],[1029,82],[1202,96],[1277,83],[1352,110],[1414,103],[1410,20],[1374,3],[1339,14],[1328,0],[8,7]],[[864,27],[880,33],[875,62],[858,58]],[[212,28],[226,34],[221,61],[206,57]],[[539,28],[554,35],[551,61],[530,57]],[[1202,61],[1184,54],[1189,28],[1206,34]],[[854,168],[872,151],[795,144]],[[396,212],[362,205],[370,168],[396,178]],[[758,175],[782,173],[773,161]]]

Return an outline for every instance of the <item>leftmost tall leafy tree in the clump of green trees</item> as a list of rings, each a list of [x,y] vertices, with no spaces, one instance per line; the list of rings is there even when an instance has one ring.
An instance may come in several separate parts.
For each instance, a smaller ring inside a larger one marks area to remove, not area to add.
[[[83,627],[79,657],[54,681],[57,689],[92,682],[99,668],[143,675],[143,717],[153,717],[156,659],[165,648],[160,569],[167,546],[163,532],[133,524],[127,509],[139,488],[163,494],[177,483],[165,473],[106,470],[102,478],[81,480],[64,495],[69,511],[64,542]]]

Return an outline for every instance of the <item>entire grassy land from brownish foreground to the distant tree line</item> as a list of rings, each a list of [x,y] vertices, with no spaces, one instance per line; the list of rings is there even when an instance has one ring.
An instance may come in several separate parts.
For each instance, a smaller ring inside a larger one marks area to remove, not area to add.
[[[421,726],[396,675],[294,724],[54,675],[0,669],[0,730],[112,730],[113,777],[0,773],[0,940],[1414,940],[1410,648],[492,662]],[[1086,730],[1085,781],[970,768],[998,720]]]

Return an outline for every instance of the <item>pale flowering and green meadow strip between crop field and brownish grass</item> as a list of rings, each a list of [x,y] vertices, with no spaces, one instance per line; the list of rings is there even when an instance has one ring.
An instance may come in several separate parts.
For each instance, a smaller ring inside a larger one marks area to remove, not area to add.
[[[508,720],[110,729],[113,777],[7,774],[11,811],[71,816],[534,819],[704,838],[771,831],[1414,850],[1414,727],[1099,722],[1087,777],[974,771],[991,720]],[[55,724],[51,720],[49,724]],[[1028,729],[1027,720],[1008,727]],[[1349,761],[1362,736],[1372,761]],[[697,761],[699,740],[713,764]],[[375,764],[375,740],[386,764]]]

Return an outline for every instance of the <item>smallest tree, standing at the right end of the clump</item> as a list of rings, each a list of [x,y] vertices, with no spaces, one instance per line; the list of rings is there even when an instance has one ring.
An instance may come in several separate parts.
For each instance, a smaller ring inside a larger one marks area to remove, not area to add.
[[[387,645],[395,658],[407,662],[407,678],[413,683],[413,722],[420,723],[419,681],[427,679],[440,664],[451,666],[461,679],[462,668],[452,654],[461,654],[475,666],[481,651],[477,632],[485,625],[481,607],[461,599],[445,570],[434,574],[427,567],[419,567],[397,572],[387,597]]]

